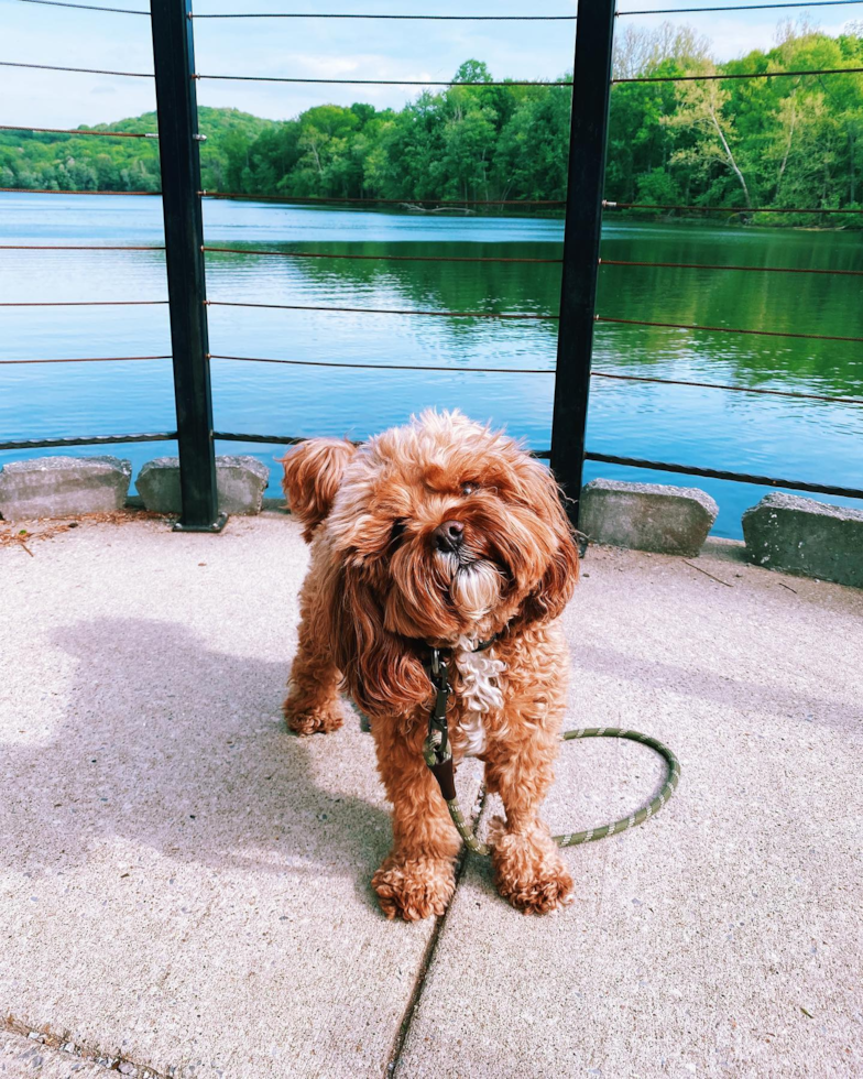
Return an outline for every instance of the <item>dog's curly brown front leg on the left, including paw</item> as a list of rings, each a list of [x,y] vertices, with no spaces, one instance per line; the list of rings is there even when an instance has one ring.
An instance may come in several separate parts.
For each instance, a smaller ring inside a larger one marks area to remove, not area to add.
[[[425,728],[404,733],[396,718],[372,720],[378,771],[393,804],[393,849],[372,879],[387,918],[443,914],[456,886],[461,840],[423,760]]]

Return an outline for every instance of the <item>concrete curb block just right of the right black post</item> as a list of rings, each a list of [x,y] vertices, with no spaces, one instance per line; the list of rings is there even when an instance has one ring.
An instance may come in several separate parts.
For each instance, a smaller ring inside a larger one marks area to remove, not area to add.
[[[581,491],[579,527],[594,543],[695,556],[719,506],[695,487],[591,480]]]

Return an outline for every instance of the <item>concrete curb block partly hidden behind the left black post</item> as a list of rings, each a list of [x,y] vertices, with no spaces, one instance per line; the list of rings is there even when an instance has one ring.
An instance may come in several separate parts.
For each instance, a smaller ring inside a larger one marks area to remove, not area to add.
[[[255,457],[217,457],[216,487],[223,513],[260,513],[270,469]],[[142,466],[135,479],[146,510],[179,513],[179,459],[156,457]]]

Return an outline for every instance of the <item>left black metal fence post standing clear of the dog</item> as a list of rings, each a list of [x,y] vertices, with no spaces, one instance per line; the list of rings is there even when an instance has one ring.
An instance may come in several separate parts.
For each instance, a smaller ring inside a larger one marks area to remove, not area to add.
[[[183,497],[175,528],[219,532],[192,0],[151,0],[150,10]]]

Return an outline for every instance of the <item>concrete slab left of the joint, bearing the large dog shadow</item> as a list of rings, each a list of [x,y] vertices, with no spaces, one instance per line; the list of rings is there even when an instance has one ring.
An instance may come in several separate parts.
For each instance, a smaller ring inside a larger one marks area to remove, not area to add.
[[[284,730],[299,531],[83,521],[0,548],[7,1026],[184,1079],[383,1073],[435,926],[371,893],[389,821],[359,718]]]

